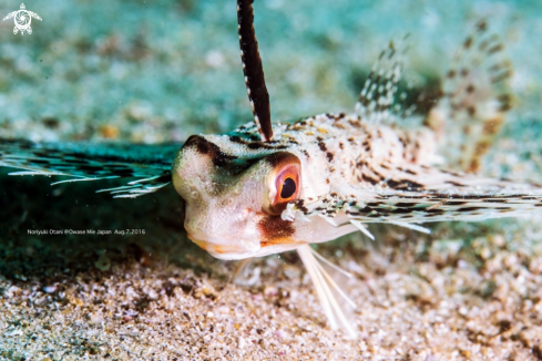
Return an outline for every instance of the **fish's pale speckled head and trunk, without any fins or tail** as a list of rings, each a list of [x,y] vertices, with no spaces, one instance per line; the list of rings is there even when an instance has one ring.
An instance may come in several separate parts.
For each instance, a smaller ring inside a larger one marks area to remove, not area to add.
[[[225,135],[195,136],[174,161],[173,184],[186,200],[188,235],[216,257],[265,256],[357,229],[346,225],[339,230],[323,217],[290,219],[286,208],[272,212],[269,205],[279,192],[274,177],[282,171],[277,168],[282,165],[275,164],[277,154],[294,159],[286,159],[287,164],[299,164],[299,189],[292,200],[301,213],[328,195],[375,200],[371,189],[377,185],[386,187],[388,180],[387,169],[379,173],[381,165],[396,164],[397,168],[431,161],[406,152],[401,143],[406,133],[364,122],[355,114],[320,114],[273,128],[270,143],[260,142],[252,124]],[[419,142],[423,135],[409,134],[408,138]],[[221,235],[234,237],[221,243]],[[234,239],[243,241],[234,246]],[[241,244],[246,245],[244,251]],[[233,252],[233,248],[239,251]]]

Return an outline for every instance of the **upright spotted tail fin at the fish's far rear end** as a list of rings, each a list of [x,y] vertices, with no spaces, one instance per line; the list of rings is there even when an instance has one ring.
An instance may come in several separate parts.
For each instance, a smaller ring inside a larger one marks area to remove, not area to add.
[[[440,151],[449,164],[466,172],[480,168],[511,107],[512,65],[503,48],[485,21],[479,21],[457,51],[443,96],[425,121],[440,136]]]

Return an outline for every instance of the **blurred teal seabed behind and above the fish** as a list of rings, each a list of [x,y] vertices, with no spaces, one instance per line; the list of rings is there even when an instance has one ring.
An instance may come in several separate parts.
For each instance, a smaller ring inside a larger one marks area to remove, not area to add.
[[[0,22],[0,136],[182,142],[250,120],[233,0],[30,1],[31,35]],[[0,3],[3,18],[20,1]],[[372,62],[410,33],[420,86],[487,18],[514,65],[523,118],[538,114],[542,11],[533,1],[256,0],[274,120],[350,111]]]

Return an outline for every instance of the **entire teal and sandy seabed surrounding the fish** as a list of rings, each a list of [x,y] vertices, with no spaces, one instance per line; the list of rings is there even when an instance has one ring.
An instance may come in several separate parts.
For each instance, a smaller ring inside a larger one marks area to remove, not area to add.
[[[31,1],[32,34],[0,21],[0,138],[180,145],[250,121],[228,1]],[[0,18],[20,2],[0,2]],[[542,4],[256,0],[275,121],[350,112],[388,41],[410,34],[412,92],[439,87],[485,19],[513,63],[513,106],[480,173],[542,180]],[[371,226],[318,250],[354,272],[361,337],[331,332],[293,254],[235,262],[186,239],[171,188],[140,199],[100,184],[0,171],[0,359],[542,359],[542,229],[533,219]],[[144,235],[30,234],[144,229]]]

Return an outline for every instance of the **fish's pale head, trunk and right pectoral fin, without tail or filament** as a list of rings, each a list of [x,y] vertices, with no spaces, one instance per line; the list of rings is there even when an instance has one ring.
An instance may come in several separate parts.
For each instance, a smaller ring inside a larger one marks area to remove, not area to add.
[[[429,128],[320,114],[276,124],[274,134],[263,143],[246,124],[224,135],[193,136],[173,163],[188,237],[215,257],[259,257],[324,243],[360,223],[417,228],[513,216],[541,205],[536,186],[440,169]],[[273,210],[277,178],[290,164],[298,164],[299,189]]]

